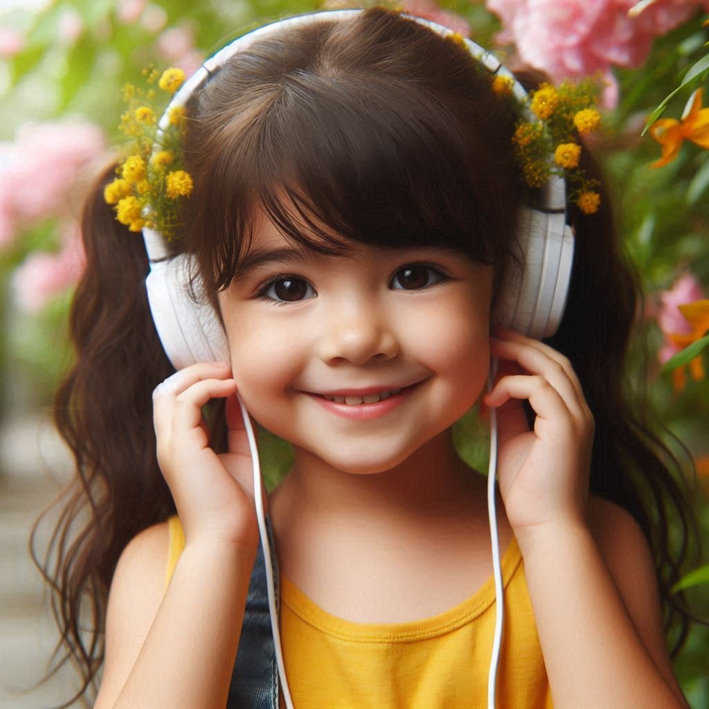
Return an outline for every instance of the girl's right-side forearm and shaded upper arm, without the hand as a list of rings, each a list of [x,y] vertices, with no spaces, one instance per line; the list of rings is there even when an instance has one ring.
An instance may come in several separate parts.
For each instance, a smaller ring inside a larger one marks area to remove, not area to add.
[[[588,526],[530,528],[518,542],[555,707],[688,707],[652,558],[625,510],[591,499]]]

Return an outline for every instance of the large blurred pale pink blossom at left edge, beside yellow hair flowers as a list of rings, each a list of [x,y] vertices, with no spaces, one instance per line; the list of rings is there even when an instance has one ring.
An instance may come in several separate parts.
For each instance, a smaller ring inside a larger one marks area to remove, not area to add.
[[[13,143],[0,143],[0,247],[26,226],[65,214],[77,178],[104,150],[101,129],[84,121],[27,123]]]

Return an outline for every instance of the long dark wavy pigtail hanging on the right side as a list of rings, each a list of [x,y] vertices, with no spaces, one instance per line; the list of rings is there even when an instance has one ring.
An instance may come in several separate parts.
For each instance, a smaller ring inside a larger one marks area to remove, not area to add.
[[[582,167],[600,178],[588,150],[584,153]],[[610,203],[601,189],[598,213],[586,216],[573,208],[576,255],[571,289],[564,319],[548,342],[571,360],[596,420],[591,491],[629,511],[652,549],[674,655],[686,640],[691,615],[681,605],[681,594],[670,589],[682,576],[693,547],[699,546],[700,535],[686,466],[664,440],[676,443],[690,467],[691,455],[653,411],[647,361],[641,362],[639,372],[629,371],[629,352],[647,357],[651,350],[647,330],[638,326],[642,277],[618,238]]]

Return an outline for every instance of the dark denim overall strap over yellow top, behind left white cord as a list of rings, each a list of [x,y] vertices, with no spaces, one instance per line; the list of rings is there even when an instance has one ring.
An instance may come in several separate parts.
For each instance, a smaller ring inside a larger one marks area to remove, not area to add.
[[[279,575],[269,518],[266,530],[271,547],[276,607],[279,605]],[[249,584],[239,649],[229,686],[227,709],[278,709],[279,680],[271,618],[268,608],[266,563],[259,542]]]

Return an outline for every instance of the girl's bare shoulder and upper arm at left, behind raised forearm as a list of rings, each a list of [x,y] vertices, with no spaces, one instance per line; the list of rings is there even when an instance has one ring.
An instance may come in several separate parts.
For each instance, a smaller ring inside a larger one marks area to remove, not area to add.
[[[112,706],[118,697],[157,615],[164,596],[168,549],[169,527],[163,522],[135,535],[118,559],[106,610],[101,706]]]

